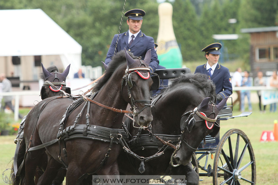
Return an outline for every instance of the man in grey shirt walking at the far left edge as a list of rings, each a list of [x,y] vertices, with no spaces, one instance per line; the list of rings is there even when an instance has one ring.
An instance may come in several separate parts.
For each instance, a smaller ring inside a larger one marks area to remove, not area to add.
[[[2,82],[2,92],[11,92],[12,91],[12,83],[10,80],[6,78],[5,74],[0,74],[0,82]],[[1,110],[5,110],[6,106],[8,106],[12,112],[14,112],[14,106],[12,105],[12,96],[3,96],[4,105],[1,106]],[[23,117],[19,114],[20,119]]]

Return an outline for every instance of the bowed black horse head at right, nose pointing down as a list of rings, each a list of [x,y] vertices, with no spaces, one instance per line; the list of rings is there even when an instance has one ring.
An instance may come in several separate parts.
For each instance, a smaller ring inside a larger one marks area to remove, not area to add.
[[[206,135],[216,136],[220,129],[220,125],[216,122],[217,115],[227,99],[228,97],[215,105],[209,102],[210,98],[205,98],[194,110],[184,112],[180,120],[182,135],[173,153],[178,164],[186,165],[191,161],[193,152],[197,150]]]

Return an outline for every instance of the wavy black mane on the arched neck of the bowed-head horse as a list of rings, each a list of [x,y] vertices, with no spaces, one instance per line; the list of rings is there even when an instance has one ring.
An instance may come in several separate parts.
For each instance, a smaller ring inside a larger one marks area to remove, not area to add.
[[[161,93],[173,90],[173,87],[180,83],[190,83],[198,88],[202,89],[206,95],[206,97],[211,98],[211,102],[215,102],[216,93],[215,93],[215,85],[213,81],[207,78],[207,75],[202,73],[191,74],[187,73],[185,75],[181,75],[172,80],[171,85],[168,88],[164,89]]]

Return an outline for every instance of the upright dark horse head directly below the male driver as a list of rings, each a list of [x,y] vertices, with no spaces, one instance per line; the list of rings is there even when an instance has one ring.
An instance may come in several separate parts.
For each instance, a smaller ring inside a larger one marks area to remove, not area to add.
[[[150,108],[150,90],[153,88],[153,79],[159,77],[156,75],[151,77],[152,73],[149,68],[151,50],[147,51],[144,60],[141,60],[140,57],[133,59],[126,49],[125,57],[127,59],[127,69],[122,79],[122,95],[124,91],[127,92],[123,97],[131,105],[134,121],[141,127],[145,127],[153,120]],[[154,85],[156,86],[156,84]]]

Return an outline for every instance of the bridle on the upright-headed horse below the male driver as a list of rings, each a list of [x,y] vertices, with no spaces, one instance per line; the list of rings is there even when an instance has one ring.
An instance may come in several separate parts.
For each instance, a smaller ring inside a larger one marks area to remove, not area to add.
[[[149,106],[154,106],[153,104],[151,104],[151,100],[142,100],[142,99],[135,100],[133,98],[133,95],[132,95],[132,92],[131,92],[131,88],[133,87],[133,84],[132,84],[132,81],[131,81],[131,74],[138,72],[138,70],[144,70],[144,71],[147,71],[148,73],[151,73],[150,72],[151,70],[150,70],[149,67],[135,67],[135,68],[130,68],[130,69],[127,68],[125,70],[125,75],[122,77],[121,93],[122,93],[122,88],[123,88],[124,84],[125,84],[125,86],[128,85],[127,86],[127,95],[131,99],[131,108],[130,108],[130,110],[133,112],[132,113],[133,118],[135,118],[135,116],[137,114],[139,114],[140,112],[142,112],[145,108],[147,108]],[[157,75],[155,73],[151,73],[151,74]],[[136,112],[137,107],[135,106],[135,103],[144,103],[145,106],[141,110]],[[136,127],[134,125],[134,119],[133,119],[133,127]],[[136,128],[145,128],[145,127],[136,127]]]

